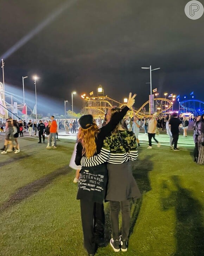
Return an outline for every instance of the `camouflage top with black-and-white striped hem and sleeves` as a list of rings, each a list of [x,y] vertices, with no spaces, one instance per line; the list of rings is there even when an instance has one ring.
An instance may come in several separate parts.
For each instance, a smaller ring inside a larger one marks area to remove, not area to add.
[[[104,162],[120,164],[136,160],[138,158],[138,150],[134,133],[128,130],[119,131],[119,133],[126,149],[121,142],[119,134],[111,133],[110,136],[104,139],[100,154],[90,158],[82,157],[81,165],[93,167]]]

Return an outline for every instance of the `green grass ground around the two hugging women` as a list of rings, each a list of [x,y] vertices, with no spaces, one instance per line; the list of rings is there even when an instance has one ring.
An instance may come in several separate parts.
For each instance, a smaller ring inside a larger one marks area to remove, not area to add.
[[[192,160],[191,136],[179,139],[179,152],[168,147],[166,135],[157,138],[162,146],[148,150],[147,137],[140,136],[132,167],[143,196],[131,207],[128,252],[118,255],[204,255],[204,166]],[[0,255],[87,255],[69,168],[75,142],[61,139],[57,149],[47,150],[37,138],[19,141],[19,154],[0,155]],[[105,212],[108,241],[108,203]],[[116,253],[107,245],[96,255]]]

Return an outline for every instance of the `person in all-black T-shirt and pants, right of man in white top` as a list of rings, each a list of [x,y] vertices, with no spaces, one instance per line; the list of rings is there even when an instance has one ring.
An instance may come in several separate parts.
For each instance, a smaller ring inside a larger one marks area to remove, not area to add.
[[[171,129],[174,144],[174,151],[179,151],[180,149],[177,147],[178,139],[179,139],[179,126],[182,124],[182,121],[178,119],[178,114],[174,112],[169,121],[169,127]]]

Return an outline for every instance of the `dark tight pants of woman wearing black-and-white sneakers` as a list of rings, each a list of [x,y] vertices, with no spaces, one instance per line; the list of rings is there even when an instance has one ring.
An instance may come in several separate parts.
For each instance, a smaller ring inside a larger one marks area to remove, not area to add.
[[[119,240],[119,212],[122,213],[122,240],[128,240],[130,229],[130,202],[129,200],[116,202],[110,201],[110,221],[113,240]]]

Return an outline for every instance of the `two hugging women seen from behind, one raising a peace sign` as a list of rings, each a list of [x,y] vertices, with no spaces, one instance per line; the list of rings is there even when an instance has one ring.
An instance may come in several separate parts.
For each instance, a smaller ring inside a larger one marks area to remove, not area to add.
[[[103,201],[110,202],[114,251],[127,251],[130,226],[130,198],[140,192],[133,178],[130,161],[138,157],[136,138],[128,131],[123,117],[135,102],[129,95],[127,106],[109,109],[107,124],[98,128],[92,115],[79,119],[81,125],[75,163],[82,165],[77,199],[80,200],[84,246],[89,255],[104,243]],[[107,162],[107,163],[106,163]],[[107,184],[108,181],[108,184]],[[122,212],[122,236],[119,234],[119,211]]]

